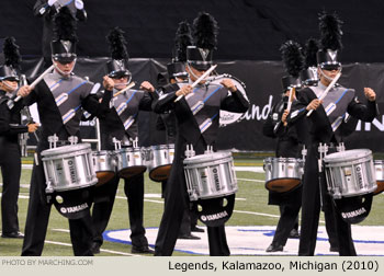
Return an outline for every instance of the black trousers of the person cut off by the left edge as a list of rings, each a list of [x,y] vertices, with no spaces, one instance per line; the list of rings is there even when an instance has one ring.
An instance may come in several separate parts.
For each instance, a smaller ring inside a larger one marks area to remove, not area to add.
[[[19,231],[18,198],[20,191],[21,159],[18,142],[1,142],[0,166],[3,182],[1,196],[1,229],[2,233],[7,234]]]

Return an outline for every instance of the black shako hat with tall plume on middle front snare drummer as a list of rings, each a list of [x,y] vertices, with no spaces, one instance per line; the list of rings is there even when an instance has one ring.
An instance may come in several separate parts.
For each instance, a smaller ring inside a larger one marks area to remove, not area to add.
[[[213,50],[216,49],[218,26],[216,20],[206,12],[200,12],[193,21],[194,46],[187,48],[187,61],[203,71],[212,66]]]

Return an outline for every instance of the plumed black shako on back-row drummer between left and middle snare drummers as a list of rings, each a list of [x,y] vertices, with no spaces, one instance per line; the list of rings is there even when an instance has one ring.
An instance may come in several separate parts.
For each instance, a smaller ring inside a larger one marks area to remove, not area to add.
[[[111,53],[111,60],[106,62],[109,77],[115,79],[129,77],[129,56],[126,49],[127,43],[124,37],[124,31],[118,26],[114,27],[106,36],[106,41]]]

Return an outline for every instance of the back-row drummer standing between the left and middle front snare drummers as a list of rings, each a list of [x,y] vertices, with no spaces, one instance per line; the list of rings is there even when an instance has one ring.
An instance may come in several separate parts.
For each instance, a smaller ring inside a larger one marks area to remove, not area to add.
[[[114,96],[110,112],[105,117],[100,118],[102,150],[114,150],[113,138],[120,140],[123,147],[132,147],[132,141],[138,138],[137,114],[139,111],[151,111],[155,88],[148,81],[140,84],[140,89],[145,91],[129,89],[123,93],[118,92],[131,84],[131,72],[127,69],[128,54],[123,34],[124,32],[121,28],[115,27],[108,36],[112,60],[108,62],[110,73],[104,78],[112,84],[111,89],[113,89]],[[101,97],[102,93],[99,95]],[[122,103],[126,103],[126,108],[118,112]],[[102,233],[111,217],[118,181],[120,177],[115,176],[109,183],[97,187],[95,203],[92,210],[93,253],[100,253],[100,246],[103,243]],[[143,226],[144,173],[124,179],[124,192],[128,199],[132,253],[154,253],[148,248]]]

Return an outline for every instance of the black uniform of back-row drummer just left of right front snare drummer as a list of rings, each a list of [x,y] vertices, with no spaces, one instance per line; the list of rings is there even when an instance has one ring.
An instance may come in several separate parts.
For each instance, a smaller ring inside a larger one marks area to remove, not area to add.
[[[263,125],[263,135],[278,138],[275,156],[276,158],[301,158],[301,146],[304,141],[300,140],[298,131],[295,127],[290,127],[283,131],[276,131],[281,123],[282,114],[286,108],[289,97],[283,99],[272,106],[271,113]],[[279,205],[280,219],[273,237],[272,246],[285,246],[286,240],[292,229],[298,229],[298,212],[302,200],[302,186],[286,193],[269,192],[268,204]]]

